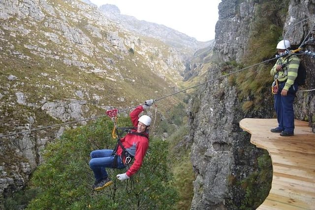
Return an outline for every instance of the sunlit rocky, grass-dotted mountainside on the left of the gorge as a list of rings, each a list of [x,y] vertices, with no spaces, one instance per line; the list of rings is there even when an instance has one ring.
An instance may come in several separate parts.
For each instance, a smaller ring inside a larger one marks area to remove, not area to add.
[[[0,1],[0,201],[64,129],[177,90],[194,47],[130,32],[79,0]],[[178,99],[165,100],[161,111]]]

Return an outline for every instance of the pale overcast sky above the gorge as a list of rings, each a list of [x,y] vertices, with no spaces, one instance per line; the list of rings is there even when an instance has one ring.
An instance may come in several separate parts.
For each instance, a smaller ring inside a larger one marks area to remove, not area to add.
[[[198,41],[215,38],[221,0],[90,0],[100,6],[116,5],[121,14],[162,24]]]

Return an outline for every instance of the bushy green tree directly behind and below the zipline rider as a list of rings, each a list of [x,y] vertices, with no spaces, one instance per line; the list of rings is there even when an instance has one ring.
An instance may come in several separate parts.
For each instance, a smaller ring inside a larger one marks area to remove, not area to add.
[[[130,126],[129,119],[120,118],[119,126]],[[92,189],[94,175],[89,168],[90,152],[114,148],[111,120],[66,131],[44,151],[45,162],[32,177],[32,188],[40,194],[28,205],[29,210],[59,209],[172,209],[177,201],[172,174],[167,161],[167,142],[150,138],[150,148],[142,168],[127,181],[114,179],[124,169],[109,169],[114,184],[102,191]],[[130,182],[133,180],[133,183]],[[126,192],[126,187],[131,192]]]

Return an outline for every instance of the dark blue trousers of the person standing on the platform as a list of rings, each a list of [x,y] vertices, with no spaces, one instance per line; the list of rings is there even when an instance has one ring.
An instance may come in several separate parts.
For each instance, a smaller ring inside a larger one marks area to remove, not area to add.
[[[277,114],[278,128],[288,133],[294,133],[293,102],[298,85],[294,84],[287,91],[286,96],[281,95],[285,83],[279,83],[278,93],[275,94],[275,111]]]

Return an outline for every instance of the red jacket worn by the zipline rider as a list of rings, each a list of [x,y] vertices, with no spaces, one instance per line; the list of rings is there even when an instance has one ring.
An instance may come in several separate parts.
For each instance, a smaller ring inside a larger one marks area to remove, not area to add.
[[[134,127],[138,126],[139,114],[143,111],[142,106],[138,106],[130,113],[130,119]],[[133,132],[137,132],[137,130],[132,130]],[[149,135],[144,133],[148,138],[144,136],[139,136],[135,134],[127,133],[125,137],[121,138],[121,142],[125,149],[134,156],[134,162],[127,170],[126,175],[131,177],[135,174],[142,165],[142,160],[149,148]],[[118,147],[117,154],[121,155],[123,149]],[[125,160],[124,160],[125,161]]]

